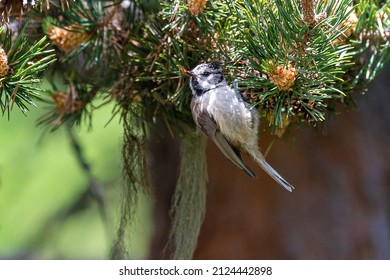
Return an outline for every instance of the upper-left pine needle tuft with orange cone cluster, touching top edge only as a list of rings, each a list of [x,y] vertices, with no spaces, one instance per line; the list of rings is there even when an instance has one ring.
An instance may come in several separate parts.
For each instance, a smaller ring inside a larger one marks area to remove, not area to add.
[[[82,57],[85,69],[115,67],[122,41],[136,17],[134,9],[124,10],[120,3],[87,0],[64,5],[53,2],[43,29],[61,50],[58,54],[61,61],[70,64]]]

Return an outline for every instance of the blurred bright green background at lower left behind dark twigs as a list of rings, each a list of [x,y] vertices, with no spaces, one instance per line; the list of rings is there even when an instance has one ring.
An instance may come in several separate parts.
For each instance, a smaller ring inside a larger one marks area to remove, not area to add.
[[[88,179],[62,127],[37,127],[45,105],[27,117],[14,108],[0,117],[0,259],[107,259],[121,201],[122,127],[106,106],[93,113],[92,129],[75,128],[93,174],[104,186],[108,222],[96,201],[65,215],[88,187]],[[132,227],[130,257],[146,258],[151,238],[151,203],[141,198]]]

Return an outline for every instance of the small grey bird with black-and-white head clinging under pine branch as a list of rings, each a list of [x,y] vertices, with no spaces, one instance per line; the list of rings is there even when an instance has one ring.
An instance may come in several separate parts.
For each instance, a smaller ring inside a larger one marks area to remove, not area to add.
[[[292,191],[294,187],[269,165],[258,147],[259,116],[241,94],[228,86],[219,63],[196,66],[190,75],[191,111],[197,126],[222,153],[251,177],[240,152],[248,153],[276,182]]]

